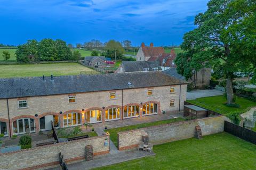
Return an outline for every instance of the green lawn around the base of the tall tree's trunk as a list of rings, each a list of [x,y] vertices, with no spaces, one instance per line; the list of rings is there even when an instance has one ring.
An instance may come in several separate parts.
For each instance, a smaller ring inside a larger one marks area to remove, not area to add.
[[[223,96],[202,97],[195,100],[188,100],[188,102],[224,115],[232,111],[245,112],[247,108],[256,106],[256,102],[243,97],[237,97],[236,103],[240,105],[239,108],[226,106],[225,103],[227,101]]]

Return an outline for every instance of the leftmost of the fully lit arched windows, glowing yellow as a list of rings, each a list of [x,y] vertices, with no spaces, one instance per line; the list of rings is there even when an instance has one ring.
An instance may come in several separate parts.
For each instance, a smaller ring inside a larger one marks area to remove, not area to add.
[[[63,115],[63,126],[77,126],[82,124],[82,116],[80,113],[68,113]]]

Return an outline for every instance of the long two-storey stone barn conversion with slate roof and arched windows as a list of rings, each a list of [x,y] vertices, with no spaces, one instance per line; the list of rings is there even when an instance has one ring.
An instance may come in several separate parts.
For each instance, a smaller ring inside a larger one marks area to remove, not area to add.
[[[183,110],[187,82],[154,72],[0,79],[0,133],[38,133]],[[139,120],[138,120],[139,121]]]

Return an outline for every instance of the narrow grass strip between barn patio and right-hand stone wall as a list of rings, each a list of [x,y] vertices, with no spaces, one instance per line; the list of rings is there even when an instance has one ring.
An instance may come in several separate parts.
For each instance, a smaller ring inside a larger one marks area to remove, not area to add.
[[[176,122],[184,121],[185,119],[183,118],[177,118]],[[156,121],[156,122],[149,122],[149,123],[141,123],[141,124],[136,124],[136,125],[131,125],[131,126],[124,126],[121,128],[113,128],[113,129],[107,129],[105,132],[110,133],[110,139],[113,141],[115,146],[117,147],[117,133],[118,132],[123,132],[123,131],[129,131],[129,130],[134,130],[134,129],[140,129],[140,128],[147,128],[149,126],[156,126],[160,124],[168,124],[168,123],[173,123],[175,120],[169,119],[169,120],[164,120],[164,121]]]

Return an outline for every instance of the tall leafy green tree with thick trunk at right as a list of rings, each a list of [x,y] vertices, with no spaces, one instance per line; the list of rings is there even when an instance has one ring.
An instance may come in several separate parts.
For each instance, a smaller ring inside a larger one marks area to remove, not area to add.
[[[251,57],[255,60],[255,53],[250,56],[247,52],[252,49],[249,48],[251,45],[243,40],[244,33],[241,34],[249,22],[247,18],[251,17],[247,15],[255,15],[254,8],[251,6],[253,3],[248,2],[253,1],[211,0],[207,3],[207,11],[195,17],[197,28],[184,35],[181,44],[184,52],[180,53],[175,60],[178,72],[186,78],[191,77],[193,70],[220,64],[227,79],[227,104],[233,103],[234,72],[244,69],[244,65],[250,66]],[[245,6],[250,10],[239,13]],[[245,23],[239,24],[241,22]],[[251,24],[255,29],[255,21]],[[253,37],[253,31],[248,30],[246,35]],[[238,37],[235,38],[236,36]],[[243,52],[241,48],[244,49]]]

